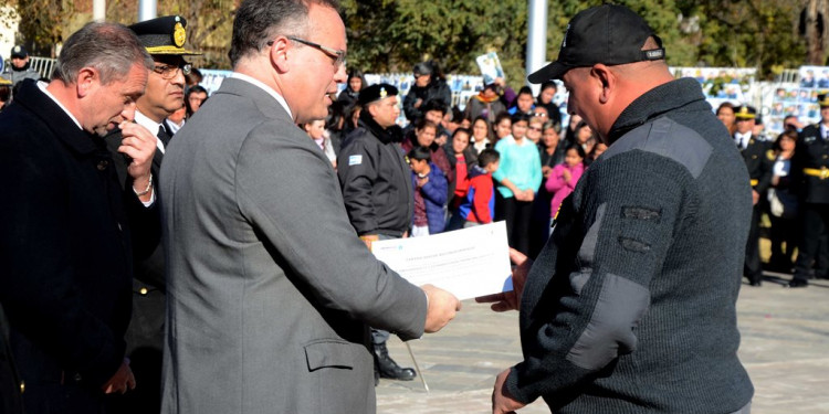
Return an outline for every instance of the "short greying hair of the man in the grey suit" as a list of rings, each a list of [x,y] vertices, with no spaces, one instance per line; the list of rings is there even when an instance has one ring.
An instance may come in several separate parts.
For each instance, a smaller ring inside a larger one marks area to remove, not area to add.
[[[230,64],[258,53],[279,34],[304,36],[308,29],[308,4],[338,10],[337,0],[244,0],[233,20]]]

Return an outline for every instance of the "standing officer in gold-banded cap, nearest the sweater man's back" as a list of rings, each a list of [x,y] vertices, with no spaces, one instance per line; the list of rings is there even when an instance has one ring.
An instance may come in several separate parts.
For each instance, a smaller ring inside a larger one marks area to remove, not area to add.
[[[757,118],[756,109],[751,106],[742,106],[737,109],[735,116],[737,130],[734,132],[734,141],[739,148],[748,169],[754,202],[743,275],[748,278],[752,286],[760,286],[763,284],[763,268],[759,257],[759,200],[765,197],[766,190],[772,184],[772,168],[775,155],[769,142],[753,135],[755,119]]]

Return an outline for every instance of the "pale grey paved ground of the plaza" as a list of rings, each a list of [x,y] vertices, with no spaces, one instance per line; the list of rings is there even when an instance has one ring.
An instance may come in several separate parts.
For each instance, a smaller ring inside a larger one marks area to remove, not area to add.
[[[783,288],[789,276],[769,275],[763,287],[743,286],[737,302],[739,357],[755,386],[753,413],[829,413],[829,280]],[[486,413],[495,374],[520,360],[517,314],[494,314],[464,301],[443,331],[409,342],[429,384],[381,380],[380,414]],[[411,367],[406,346],[391,355]],[[549,413],[536,402],[520,413]]]

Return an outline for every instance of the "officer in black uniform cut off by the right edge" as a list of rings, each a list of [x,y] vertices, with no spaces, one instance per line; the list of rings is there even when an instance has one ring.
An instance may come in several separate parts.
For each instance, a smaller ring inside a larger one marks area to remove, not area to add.
[[[821,233],[829,229],[829,95],[819,95],[820,123],[809,125],[791,158],[791,179],[800,200],[802,234],[789,287],[809,285]]]

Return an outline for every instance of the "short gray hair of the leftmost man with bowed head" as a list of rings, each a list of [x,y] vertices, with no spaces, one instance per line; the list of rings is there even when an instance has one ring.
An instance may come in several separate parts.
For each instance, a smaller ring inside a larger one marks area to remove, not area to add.
[[[123,79],[136,64],[148,71],[155,67],[133,31],[117,23],[87,23],[63,44],[52,79],[73,84],[82,68],[94,67],[106,85]]]

